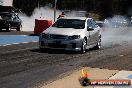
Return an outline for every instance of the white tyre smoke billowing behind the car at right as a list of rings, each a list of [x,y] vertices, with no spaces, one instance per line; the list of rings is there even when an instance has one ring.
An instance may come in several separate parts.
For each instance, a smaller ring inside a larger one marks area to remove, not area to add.
[[[105,20],[102,28],[102,45],[110,46],[132,42],[132,27],[128,27],[128,19],[114,16]]]

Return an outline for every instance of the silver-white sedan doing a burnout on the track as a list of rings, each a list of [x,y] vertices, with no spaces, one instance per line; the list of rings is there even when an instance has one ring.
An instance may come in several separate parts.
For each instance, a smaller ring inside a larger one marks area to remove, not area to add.
[[[92,18],[60,18],[40,35],[39,47],[81,53],[93,47],[99,49],[101,47],[100,27]]]

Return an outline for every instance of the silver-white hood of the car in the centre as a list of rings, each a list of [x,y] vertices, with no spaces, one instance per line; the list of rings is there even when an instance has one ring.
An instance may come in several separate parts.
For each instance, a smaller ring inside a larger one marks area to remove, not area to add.
[[[84,29],[73,29],[73,28],[56,28],[50,27],[43,33],[46,34],[57,34],[57,35],[80,35]]]

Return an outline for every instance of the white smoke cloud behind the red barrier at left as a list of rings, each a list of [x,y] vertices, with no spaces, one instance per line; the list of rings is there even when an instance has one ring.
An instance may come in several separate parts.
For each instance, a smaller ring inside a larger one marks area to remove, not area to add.
[[[56,17],[60,14],[60,11],[56,12]],[[54,21],[54,9],[49,7],[36,8],[31,17],[24,14],[20,15],[22,19],[22,31],[34,31],[35,19],[39,20],[52,20]]]

